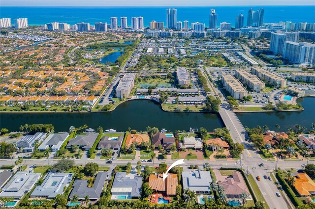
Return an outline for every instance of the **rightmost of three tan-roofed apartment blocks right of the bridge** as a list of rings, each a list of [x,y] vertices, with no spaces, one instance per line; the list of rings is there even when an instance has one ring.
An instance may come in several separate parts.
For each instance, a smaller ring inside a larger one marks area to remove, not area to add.
[[[260,67],[252,67],[252,74],[258,76],[261,80],[266,83],[270,83],[273,86],[284,88],[286,86],[286,79],[267,71]]]

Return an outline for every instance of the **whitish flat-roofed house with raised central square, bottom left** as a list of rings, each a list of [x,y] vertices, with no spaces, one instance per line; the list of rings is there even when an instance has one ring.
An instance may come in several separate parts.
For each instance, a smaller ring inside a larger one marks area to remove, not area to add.
[[[63,194],[64,187],[69,186],[72,181],[72,174],[49,173],[44,182],[33,190],[31,197],[55,198],[57,194]]]

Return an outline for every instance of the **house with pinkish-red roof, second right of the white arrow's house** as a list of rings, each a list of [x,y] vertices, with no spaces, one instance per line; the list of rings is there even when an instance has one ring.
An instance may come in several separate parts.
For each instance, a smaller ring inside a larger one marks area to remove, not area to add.
[[[250,195],[242,174],[239,172],[233,172],[232,177],[227,177],[225,181],[219,182],[219,186],[224,187],[227,198],[241,198],[243,192]]]

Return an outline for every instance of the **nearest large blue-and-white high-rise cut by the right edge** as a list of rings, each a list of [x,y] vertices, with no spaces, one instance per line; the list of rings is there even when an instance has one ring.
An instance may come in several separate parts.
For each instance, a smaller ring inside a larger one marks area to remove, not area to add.
[[[315,63],[315,44],[284,42],[283,57],[293,63],[311,65]]]

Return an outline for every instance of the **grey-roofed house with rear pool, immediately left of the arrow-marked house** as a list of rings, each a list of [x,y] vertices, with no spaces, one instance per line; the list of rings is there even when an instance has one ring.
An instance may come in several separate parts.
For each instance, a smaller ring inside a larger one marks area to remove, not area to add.
[[[118,172],[112,184],[112,200],[139,198],[141,194],[142,177],[135,177],[126,172]]]

